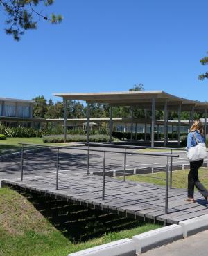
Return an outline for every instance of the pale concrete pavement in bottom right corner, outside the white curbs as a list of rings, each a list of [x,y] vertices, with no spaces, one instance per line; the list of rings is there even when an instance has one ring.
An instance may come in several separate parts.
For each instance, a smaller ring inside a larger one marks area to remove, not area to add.
[[[175,241],[172,244],[149,250],[142,256],[207,256],[208,230],[196,235]]]

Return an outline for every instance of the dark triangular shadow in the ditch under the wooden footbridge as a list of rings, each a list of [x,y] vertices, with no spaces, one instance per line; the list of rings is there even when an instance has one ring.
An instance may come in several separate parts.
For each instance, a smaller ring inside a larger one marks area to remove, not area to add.
[[[23,190],[17,190],[17,192],[23,194],[55,228],[73,243],[101,237],[108,232],[119,232],[146,225],[144,221],[128,219],[75,203],[51,199]]]

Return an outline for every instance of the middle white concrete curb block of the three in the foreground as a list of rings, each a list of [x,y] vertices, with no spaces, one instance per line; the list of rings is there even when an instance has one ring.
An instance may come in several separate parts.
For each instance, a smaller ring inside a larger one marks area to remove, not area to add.
[[[137,253],[144,253],[147,250],[182,238],[182,227],[173,224],[171,226],[157,228],[155,230],[145,232],[141,235],[135,235],[132,239],[135,242]]]

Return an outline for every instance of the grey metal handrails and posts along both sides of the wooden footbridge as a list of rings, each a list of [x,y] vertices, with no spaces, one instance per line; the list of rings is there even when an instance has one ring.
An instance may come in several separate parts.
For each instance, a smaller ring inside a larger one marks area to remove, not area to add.
[[[165,195],[165,213],[168,213],[168,178],[169,178],[169,158],[171,158],[171,172],[172,172],[172,159],[173,157],[179,157],[179,155],[172,154],[155,154],[155,153],[146,153],[146,152],[127,152],[126,147],[125,151],[111,151],[111,150],[101,150],[101,149],[89,149],[89,145],[92,145],[94,143],[87,143],[88,147],[86,149],[84,148],[75,148],[75,147],[62,147],[62,146],[52,146],[52,145],[40,145],[40,144],[31,144],[31,143],[19,143],[22,146],[21,149],[21,181],[23,181],[23,174],[24,174],[24,146],[30,145],[30,146],[36,146],[36,147],[50,147],[53,149],[57,149],[56,152],[56,190],[58,190],[58,177],[59,177],[59,166],[60,166],[60,149],[72,149],[72,150],[79,150],[79,151],[85,151],[87,152],[87,175],[89,175],[89,152],[103,152],[103,189],[102,189],[102,199],[105,199],[105,170],[106,170],[106,153],[114,153],[114,154],[123,154],[124,155],[124,162],[123,162],[123,181],[125,182],[125,176],[126,176],[126,161],[128,154],[132,155],[142,155],[142,156],[160,156],[160,157],[166,157],[167,158],[167,165],[166,165],[166,195]],[[97,143],[99,145],[105,145],[101,143]],[[153,147],[151,147],[153,148]],[[172,178],[172,175],[171,175]]]

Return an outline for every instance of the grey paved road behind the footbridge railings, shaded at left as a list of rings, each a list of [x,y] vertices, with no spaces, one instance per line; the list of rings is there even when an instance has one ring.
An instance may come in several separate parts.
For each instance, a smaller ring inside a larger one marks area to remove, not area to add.
[[[67,174],[68,172],[87,172],[87,152],[77,149],[60,149],[60,172]],[[124,149],[90,147],[90,149],[110,150],[123,152]],[[139,152],[138,149],[128,149],[128,152]],[[106,153],[106,169],[121,170],[123,169],[123,154]],[[164,153],[164,152],[151,152]],[[184,152],[174,152],[180,154],[180,158],[173,158],[174,165],[188,165],[188,161]],[[30,172],[31,175],[51,174],[56,170],[56,150],[51,149],[48,152],[37,152],[24,154],[24,170]],[[157,170],[166,169],[166,157],[144,156],[128,154],[126,159],[126,169],[137,168],[146,170],[146,168],[155,167]],[[175,167],[177,169],[177,167]],[[174,168],[174,170],[175,170]],[[180,168],[179,168],[180,169]],[[0,180],[19,178],[21,170],[21,157],[7,158],[0,160]],[[89,155],[89,172],[103,170],[103,152],[90,152]]]

